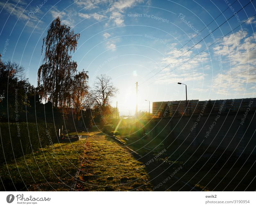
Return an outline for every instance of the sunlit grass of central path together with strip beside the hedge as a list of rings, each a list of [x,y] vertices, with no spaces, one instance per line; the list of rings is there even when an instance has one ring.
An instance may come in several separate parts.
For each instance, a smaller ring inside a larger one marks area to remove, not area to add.
[[[66,140],[0,164],[0,190],[69,191],[75,183],[75,190],[152,190],[141,165],[126,149],[94,130],[87,139]]]

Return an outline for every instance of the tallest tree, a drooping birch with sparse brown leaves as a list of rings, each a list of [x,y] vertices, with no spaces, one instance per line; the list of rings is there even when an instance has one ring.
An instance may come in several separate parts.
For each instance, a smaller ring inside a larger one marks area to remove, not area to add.
[[[71,52],[75,52],[80,34],[75,34],[57,17],[52,21],[43,39],[42,54],[44,64],[38,69],[38,86],[41,100],[52,100],[55,107],[69,104],[71,81],[76,72],[77,64],[71,60]],[[60,102],[64,97],[66,103]]]

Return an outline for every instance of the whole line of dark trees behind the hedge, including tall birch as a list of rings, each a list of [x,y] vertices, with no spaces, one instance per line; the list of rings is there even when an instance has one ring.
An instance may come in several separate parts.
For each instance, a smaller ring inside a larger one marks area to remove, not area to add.
[[[116,118],[116,108],[109,102],[118,89],[111,77],[101,74],[89,87],[88,71],[77,71],[71,54],[79,37],[59,17],[52,21],[43,38],[44,59],[37,72],[37,87],[25,78],[20,64],[2,62],[0,54],[2,122],[52,122],[74,130],[91,128],[93,121],[102,124],[102,114],[104,119]]]

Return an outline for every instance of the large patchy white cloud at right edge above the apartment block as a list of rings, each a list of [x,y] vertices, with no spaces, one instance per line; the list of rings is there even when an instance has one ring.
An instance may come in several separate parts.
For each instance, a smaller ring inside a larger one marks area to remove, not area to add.
[[[247,84],[256,81],[256,43],[255,34],[248,36],[246,31],[230,34],[214,49],[215,55],[228,65],[213,79],[212,89],[221,94],[247,90]],[[219,51],[218,51],[219,50]],[[221,90],[219,90],[221,88]]]

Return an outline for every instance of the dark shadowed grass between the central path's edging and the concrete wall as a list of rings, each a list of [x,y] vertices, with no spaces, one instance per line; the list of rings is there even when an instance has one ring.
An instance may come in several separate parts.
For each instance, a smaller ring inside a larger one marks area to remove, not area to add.
[[[191,190],[193,187],[196,190],[204,191],[255,190],[256,166],[252,163],[255,157],[251,156],[245,162],[244,158],[237,159],[235,153],[232,154],[232,152],[225,152],[222,155],[223,151],[218,149],[206,150],[205,147],[197,149],[194,146],[187,149],[189,143],[174,142],[168,148],[167,143],[159,145],[161,142],[159,138],[155,138],[152,142],[147,138],[136,139],[134,135],[117,138],[125,144],[129,144],[132,150],[142,155],[144,163],[154,158],[161,150],[166,149],[166,152],[154,159],[154,162],[146,165],[152,179],[151,182],[155,186],[170,176],[179,166],[182,166],[182,170],[175,174],[178,179],[168,180],[156,190],[184,191]],[[136,142],[136,140],[138,141]],[[155,150],[152,150],[154,148]],[[215,153],[213,153],[214,150],[216,150]],[[220,155],[222,156],[220,157]],[[236,177],[234,177],[235,175]]]

